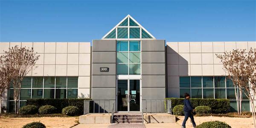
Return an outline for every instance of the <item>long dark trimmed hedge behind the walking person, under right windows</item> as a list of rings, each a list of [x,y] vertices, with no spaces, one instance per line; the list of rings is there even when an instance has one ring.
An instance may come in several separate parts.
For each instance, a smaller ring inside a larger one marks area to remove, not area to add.
[[[172,100],[172,109],[176,105],[183,105],[184,98],[166,98]],[[198,99],[191,98],[190,102],[193,107],[197,106],[209,106],[212,109],[212,113],[227,113],[230,109],[229,99]]]

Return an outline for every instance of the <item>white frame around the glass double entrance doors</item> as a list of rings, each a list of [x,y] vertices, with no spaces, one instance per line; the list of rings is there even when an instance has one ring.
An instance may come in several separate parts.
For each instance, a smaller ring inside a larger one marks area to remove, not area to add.
[[[130,94],[130,80],[140,80],[140,111],[130,111],[130,101],[127,102],[128,108],[127,111],[117,111],[117,89],[118,89],[118,80],[127,80],[128,81],[128,86],[127,90],[128,93]],[[116,75],[116,113],[140,113],[141,112],[141,104],[142,104],[142,80],[141,80],[141,75]]]

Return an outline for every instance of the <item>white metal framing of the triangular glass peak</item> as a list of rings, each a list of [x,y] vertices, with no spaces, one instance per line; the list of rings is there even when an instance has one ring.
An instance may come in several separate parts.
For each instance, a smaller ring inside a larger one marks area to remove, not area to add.
[[[128,18],[128,26],[119,26],[125,19]],[[138,24],[138,26],[130,26],[130,19],[132,19],[135,23]],[[117,28],[128,28],[128,38],[117,38]],[[130,38],[130,28],[140,28],[140,38]],[[116,29],[116,38],[106,38],[108,34],[110,34],[114,29]],[[142,38],[142,29],[145,30],[145,32],[148,33],[152,38]],[[123,18],[116,26],[114,26],[106,35],[102,37],[102,40],[124,40],[126,41],[127,39],[129,40],[155,40],[156,38],[149,33],[140,23],[138,23],[133,17],[130,15],[127,15],[125,18]]]

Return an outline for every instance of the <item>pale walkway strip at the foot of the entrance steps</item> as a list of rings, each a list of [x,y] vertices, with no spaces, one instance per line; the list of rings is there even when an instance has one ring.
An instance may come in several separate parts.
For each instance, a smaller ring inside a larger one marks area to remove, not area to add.
[[[124,123],[124,124],[79,124],[72,128],[181,128],[177,123]]]

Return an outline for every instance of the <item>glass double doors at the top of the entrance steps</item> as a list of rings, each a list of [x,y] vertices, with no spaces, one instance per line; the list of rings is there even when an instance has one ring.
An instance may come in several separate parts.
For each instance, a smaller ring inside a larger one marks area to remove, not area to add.
[[[117,80],[117,111],[140,111],[140,80]]]

